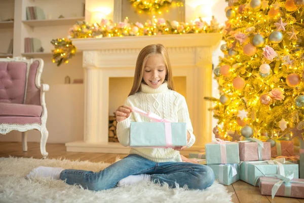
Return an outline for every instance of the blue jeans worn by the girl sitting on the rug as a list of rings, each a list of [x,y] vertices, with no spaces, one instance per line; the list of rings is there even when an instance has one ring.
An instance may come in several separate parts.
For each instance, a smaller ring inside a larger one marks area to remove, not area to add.
[[[64,170],[61,180],[69,185],[79,184],[89,190],[99,191],[115,187],[117,183],[131,175],[149,174],[155,183],[168,183],[174,188],[187,185],[189,189],[205,189],[214,182],[214,173],[209,166],[186,162],[156,163],[142,156],[130,154],[100,172]]]

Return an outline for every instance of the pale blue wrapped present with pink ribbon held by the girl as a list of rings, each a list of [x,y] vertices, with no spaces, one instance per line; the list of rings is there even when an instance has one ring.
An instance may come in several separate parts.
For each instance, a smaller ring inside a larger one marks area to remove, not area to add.
[[[187,145],[186,123],[173,123],[154,113],[132,108],[133,112],[154,122],[131,122],[130,147],[170,148]]]

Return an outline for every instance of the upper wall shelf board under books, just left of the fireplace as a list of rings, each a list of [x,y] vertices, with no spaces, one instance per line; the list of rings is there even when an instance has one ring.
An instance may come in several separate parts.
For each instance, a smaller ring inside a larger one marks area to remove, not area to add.
[[[58,18],[51,20],[22,20],[23,23],[29,25],[30,27],[44,27],[44,26],[57,26],[57,25],[70,25],[76,23],[76,21],[83,21],[85,17],[75,17],[75,18]]]

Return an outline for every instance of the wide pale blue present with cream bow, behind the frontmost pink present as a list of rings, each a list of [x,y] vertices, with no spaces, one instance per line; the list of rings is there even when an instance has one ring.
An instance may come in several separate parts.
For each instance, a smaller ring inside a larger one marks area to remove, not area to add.
[[[285,161],[285,158],[264,161],[244,161],[240,163],[240,179],[255,186],[258,178],[265,175],[294,174],[298,178],[298,164]]]

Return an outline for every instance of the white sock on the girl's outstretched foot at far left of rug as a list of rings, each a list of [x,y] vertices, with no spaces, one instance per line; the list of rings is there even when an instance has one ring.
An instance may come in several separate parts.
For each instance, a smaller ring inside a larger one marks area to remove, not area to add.
[[[59,180],[60,173],[64,170],[61,167],[46,167],[39,166],[34,168],[26,175],[26,178],[34,178],[35,176],[40,176],[43,178],[51,177],[52,179]]]

